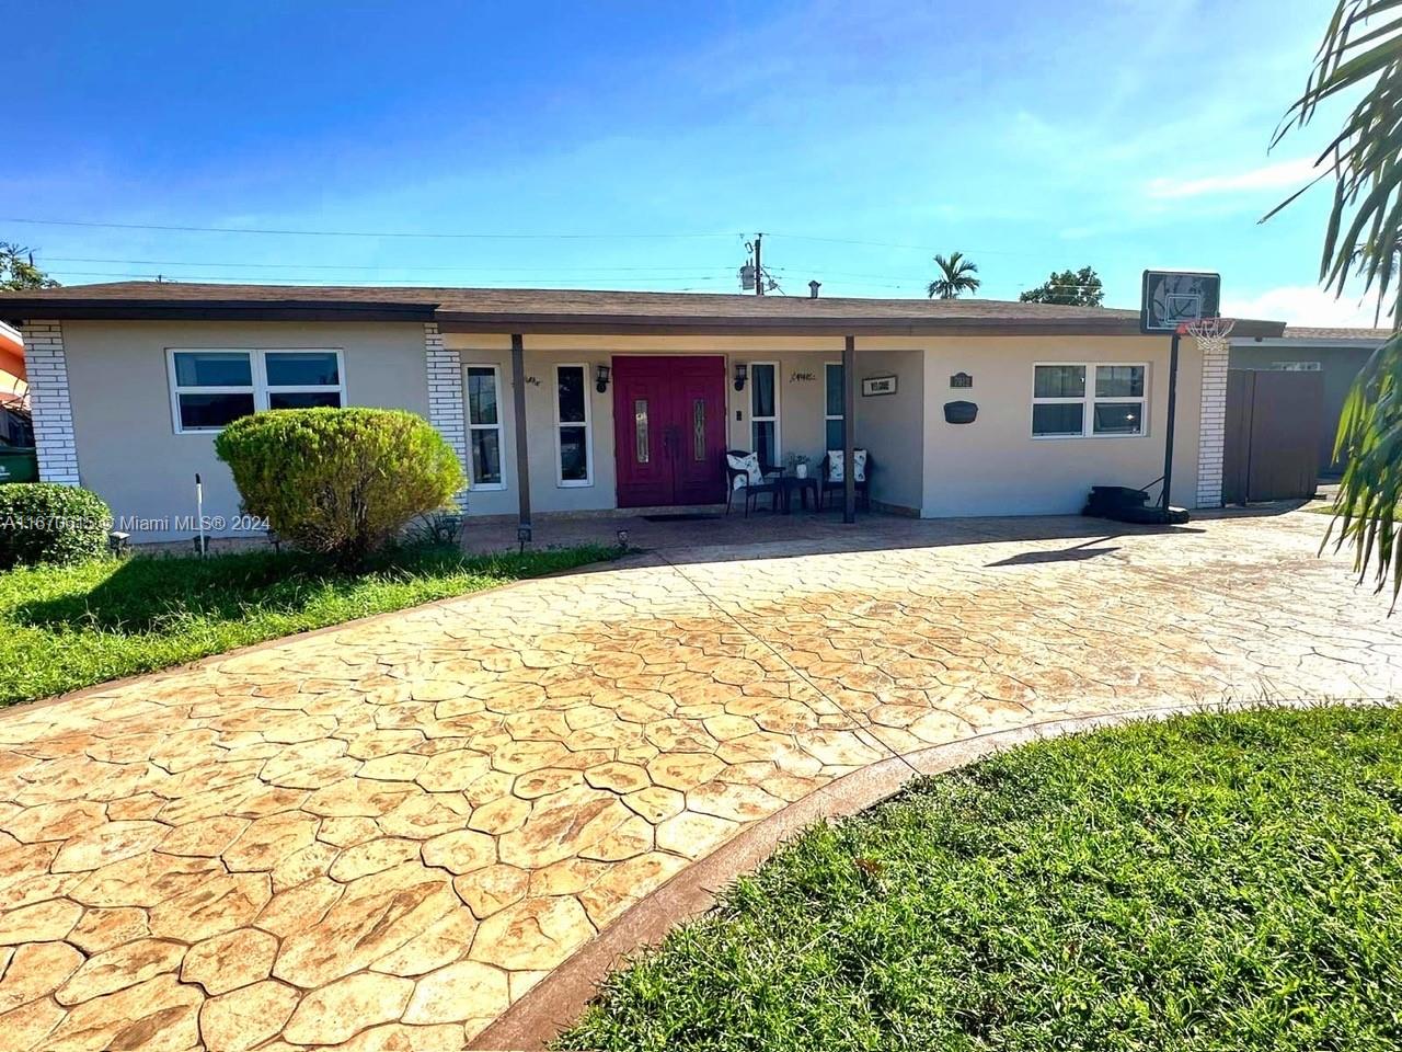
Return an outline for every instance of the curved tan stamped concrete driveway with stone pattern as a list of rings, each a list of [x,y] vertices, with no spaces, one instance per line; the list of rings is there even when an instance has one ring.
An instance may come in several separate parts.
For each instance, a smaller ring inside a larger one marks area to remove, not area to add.
[[[1197,526],[673,548],[0,715],[3,1045],[460,1048],[893,750],[1402,686],[1323,518]]]

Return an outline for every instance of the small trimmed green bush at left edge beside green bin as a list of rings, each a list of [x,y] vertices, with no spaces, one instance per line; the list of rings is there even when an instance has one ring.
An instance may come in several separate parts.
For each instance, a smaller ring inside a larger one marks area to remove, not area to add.
[[[0,569],[21,562],[81,562],[107,551],[112,509],[59,483],[0,484]]]

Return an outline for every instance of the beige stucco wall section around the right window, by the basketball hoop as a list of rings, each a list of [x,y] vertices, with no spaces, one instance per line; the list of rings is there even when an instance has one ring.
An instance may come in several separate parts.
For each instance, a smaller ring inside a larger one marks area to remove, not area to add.
[[[1007,337],[927,339],[925,461],[927,518],[962,515],[1059,515],[1081,509],[1092,484],[1141,487],[1162,474],[1168,411],[1168,337]],[[1119,362],[1148,365],[1148,426],[1133,438],[1032,438],[1036,363]],[[969,390],[949,377],[973,376]],[[973,424],[944,418],[946,401],[979,405]],[[1193,506],[1197,488],[1197,425],[1202,356],[1182,341],[1173,453],[1175,504]]]

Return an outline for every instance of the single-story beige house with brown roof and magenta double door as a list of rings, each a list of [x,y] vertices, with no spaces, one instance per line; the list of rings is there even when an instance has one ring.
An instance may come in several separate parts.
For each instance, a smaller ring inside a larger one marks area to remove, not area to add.
[[[213,433],[285,405],[422,414],[468,466],[468,515],[721,502],[728,447],[816,470],[848,400],[873,502],[908,515],[1077,512],[1092,484],[1162,473],[1169,338],[1137,311],[132,282],[0,295],[0,317],[24,331],[43,477],[146,520],[136,540],[181,534],[165,520],[191,512],[195,473],[206,513],[231,518]],[[1183,341],[1172,498],[1190,508],[1221,501],[1220,359]],[[955,401],[977,418],[946,422]]]

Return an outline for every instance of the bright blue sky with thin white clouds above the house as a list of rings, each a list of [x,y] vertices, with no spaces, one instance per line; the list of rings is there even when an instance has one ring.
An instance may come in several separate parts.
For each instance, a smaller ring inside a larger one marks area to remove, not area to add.
[[[1326,137],[1267,153],[1330,7],[6,0],[0,240],[66,283],[730,292],[763,230],[789,295],[920,296],[962,250],[993,297],[1211,268],[1228,313],[1361,321],[1314,289],[1326,191],[1256,223]]]

